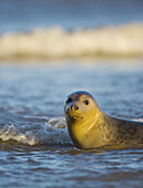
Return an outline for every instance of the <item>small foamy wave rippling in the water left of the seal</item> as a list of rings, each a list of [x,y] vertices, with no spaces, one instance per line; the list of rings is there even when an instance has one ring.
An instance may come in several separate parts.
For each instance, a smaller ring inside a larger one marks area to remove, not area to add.
[[[65,145],[72,144],[69,137],[68,130],[61,128],[61,119],[63,117],[50,119],[52,125],[47,123],[45,125],[4,125],[0,128],[0,138],[4,140],[17,140],[19,143],[28,145],[49,144],[49,145]],[[59,121],[60,119],[60,121]],[[64,119],[64,118],[63,118]],[[59,124],[59,127],[58,127]],[[54,127],[54,128],[53,128]]]

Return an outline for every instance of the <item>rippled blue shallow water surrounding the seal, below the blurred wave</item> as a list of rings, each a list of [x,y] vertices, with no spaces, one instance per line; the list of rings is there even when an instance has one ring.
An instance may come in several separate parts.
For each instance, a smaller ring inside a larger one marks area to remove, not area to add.
[[[76,149],[67,95],[85,90],[108,114],[143,119],[143,60],[0,65],[0,187],[142,187],[143,149]]]

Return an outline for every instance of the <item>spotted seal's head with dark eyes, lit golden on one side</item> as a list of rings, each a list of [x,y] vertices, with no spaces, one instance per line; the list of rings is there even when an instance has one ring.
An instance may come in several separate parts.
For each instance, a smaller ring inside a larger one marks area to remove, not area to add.
[[[75,92],[68,96],[64,105],[65,116],[72,122],[85,123],[98,111],[98,104],[88,92]]]

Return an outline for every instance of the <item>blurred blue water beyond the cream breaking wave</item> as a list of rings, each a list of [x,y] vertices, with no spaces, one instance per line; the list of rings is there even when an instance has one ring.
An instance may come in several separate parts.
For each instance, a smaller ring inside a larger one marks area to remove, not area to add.
[[[67,30],[143,21],[142,0],[1,0],[0,33],[60,25]]]

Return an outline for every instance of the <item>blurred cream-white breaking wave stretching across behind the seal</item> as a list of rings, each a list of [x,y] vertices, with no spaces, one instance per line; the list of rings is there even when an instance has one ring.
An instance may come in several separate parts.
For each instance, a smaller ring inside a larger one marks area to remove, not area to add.
[[[0,36],[0,59],[143,56],[143,24],[89,30],[37,29]]]

